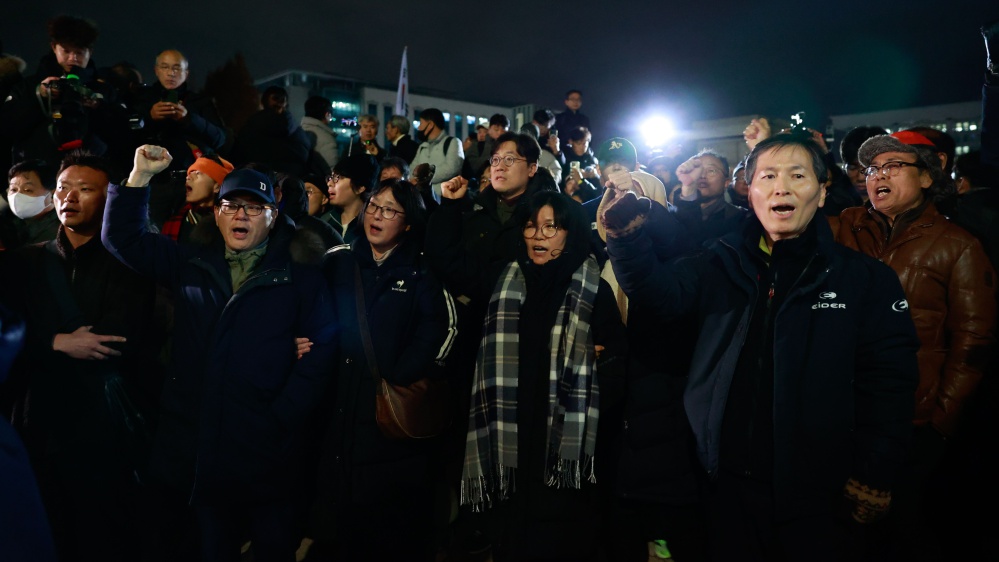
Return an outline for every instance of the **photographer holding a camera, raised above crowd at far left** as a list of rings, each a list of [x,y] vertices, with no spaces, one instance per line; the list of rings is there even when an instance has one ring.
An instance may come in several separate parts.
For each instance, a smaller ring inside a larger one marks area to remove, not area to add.
[[[97,79],[91,60],[97,28],[84,19],[58,16],[49,21],[48,32],[52,52],[3,104],[0,144],[12,145],[15,163],[59,162],[74,148],[127,161],[125,109],[114,88]]]

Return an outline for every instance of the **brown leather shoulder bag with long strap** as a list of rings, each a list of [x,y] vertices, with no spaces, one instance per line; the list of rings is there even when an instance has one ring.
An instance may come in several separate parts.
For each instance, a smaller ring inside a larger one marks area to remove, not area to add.
[[[368,315],[364,306],[361,273],[354,269],[357,321],[368,358],[368,369],[375,379],[375,421],[382,435],[389,439],[427,439],[436,437],[451,425],[451,387],[446,379],[422,378],[409,386],[392,384],[381,377]]]

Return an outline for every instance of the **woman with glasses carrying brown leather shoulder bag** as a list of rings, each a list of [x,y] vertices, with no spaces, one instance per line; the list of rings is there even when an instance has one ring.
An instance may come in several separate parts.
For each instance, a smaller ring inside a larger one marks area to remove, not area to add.
[[[440,440],[396,440],[375,422],[376,386],[362,342],[364,304],[377,369],[395,385],[444,377],[454,303],[424,267],[416,188],[386,180],[363,206],[363,235],[330,251],[323,271],[340,319],[340,367],[327,402],[310,560],[433,560]],[[335,556],[335,557],[334,557]]]

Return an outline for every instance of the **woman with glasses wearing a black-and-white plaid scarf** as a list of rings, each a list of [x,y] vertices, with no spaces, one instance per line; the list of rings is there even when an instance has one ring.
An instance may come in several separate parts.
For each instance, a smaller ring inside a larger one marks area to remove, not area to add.
[[[540,192],[525,210],[520,255],[494,267],[460,499],[485,510],[494,560],[597,559],[624,327],[579,204]]]

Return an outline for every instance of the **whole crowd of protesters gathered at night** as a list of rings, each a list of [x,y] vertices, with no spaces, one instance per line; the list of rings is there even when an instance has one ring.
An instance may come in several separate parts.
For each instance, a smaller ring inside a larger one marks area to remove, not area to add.
[[[991,554],[991,59],[968,154],[760,118],[642,161],[575,89],[340,150],[329,99],[233,127],[181,52],[48,33],[0,58],[0,559]]]

